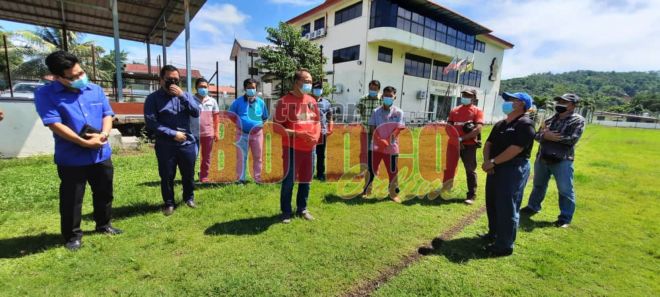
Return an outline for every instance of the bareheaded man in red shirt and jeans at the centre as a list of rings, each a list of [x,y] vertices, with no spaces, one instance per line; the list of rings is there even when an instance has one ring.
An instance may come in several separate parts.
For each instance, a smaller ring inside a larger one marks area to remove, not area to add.
[[[294,75],[293,90],[275,106],[273,121],[282,125],[288,134],[288,140],[282,142],[286,175],[280,190],[280,208],[284,224],[291,222],[291,196],[296,180],[296,214],[305,220],[314,220],[307,210],[307,198],[313,173],[312,152],[321,135],[321,124],[316,100],[309,95],[311,92],[312,75],[309,70],[300,69]]]

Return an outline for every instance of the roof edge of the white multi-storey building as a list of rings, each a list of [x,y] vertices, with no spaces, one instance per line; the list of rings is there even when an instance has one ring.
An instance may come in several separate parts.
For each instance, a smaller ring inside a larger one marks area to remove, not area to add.
[[[313,7],[312,9],[293,17],[292,19],[288,20],[287,23],[295,23],[298,22],[306,17],[312,16],[317,12],[323,11],[326,8],[341,3],[342,0],[326,0],[325,2],[319,4],[316,7]],[[480,25],[477,22],[474,22],[470,20],[469,18],[445,7],[440,4],[437,4],[433,1],[429,0],[406,0],[406,1],[397,1],[393,0],[393,2],[396,2],[397,4],[408,8],[408,9],[414,9],[418,11],[427,11],[431,16],[435,16],[438,19],[442,19],[447,25],[450,25],[456,29],[460,29],[463,32],[473,34],[473,35],[480,35],[480,34],[485,34],[487,37],[490,37],[496,42],[501,43],[504,47],[508,48],[513,48],[513,44],[510,42],[507,42],[503,39],[500,39],[490,33],[493,31],[489,28],[486,28],[482,25]]]

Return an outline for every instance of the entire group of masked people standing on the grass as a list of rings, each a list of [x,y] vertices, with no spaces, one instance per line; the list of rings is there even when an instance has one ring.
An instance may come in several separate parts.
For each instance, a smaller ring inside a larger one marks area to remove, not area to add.
[[[55,80],[35,92],[35,105],[44,125],[55,138],[55,163],[60,177],[61,232],[66,247],[77,250],[82,244],[80,229],[82,200],[86,184],[93,192],[96,230],[120,234],[112,226],[113,165],[108,136],[114,115],[103,89],[90,83],[79,60],[71,53],[57,51],[46,58]],[[196,94],[179,86],[180,73],[171,65],[160,71],[160,88],[150,94],[144,104],[146,128],[155,138],[163,214],[175,211],[174,179],[179,169],[182,200],[190,208],[195,203],[196,160],[201,155],[199,181],[208,182],[213,143],[219,139],[220,108],[209,97],[208,82],[195,82]],[[237,145],[238,183],[247,183],[248,153],[252,153],[252,178],[261,181],[263,125],[271,118],[263,99],[257,93],[257,82],[243,83],[245,94],[238,97],[228,111],[236,116],[239,126]],[[328,135],[333,132],[332,107],[323,98],[323,85],[315,82],[310,72],[299,69],[293,77],[291,91],[277,101],[272,120],[281,125],[286,135],[282,141],[284,179],[280,190],[282,223],[290,223],[294,215],[314,220],[307,208],[311,181],[325,180],[325,150]],[[481,146],[483,113],[476,107],[477,93],[462,93],[461,106],[452,110],[448,122],[456,127],[461,143],[460,156],[465,165],[468,193],[465,202],[474,203],[477,190],[476,152]],[[528,159],[534,139],[541,148],[536,159],[534,191],[523,212],[534,214],[541,209],[550,176],[555,176],[560,191],[561,215],[558,225],[570,224],[575,210],[573,192],[574,146],[584,130],[584,119],[574,112],[579,97],[566,94],[555,98],[557,113],[536,132],[526,112],[532,98],[526,93],[504,93],[505,120],[495,124],[484,145],[487,173],[486,205],[489,232],[484,239],[496,255],[511,254],[518,224],[523,189],[530,172]],[[398,135],[405,129],[404,112],[396,107],[397,90],[382,89],[377,80],[369,83],[369,93],[357,108],[366,127],[361,135],[360,159],[365,176],[361,196],[371,194],[374,177],[384,163],[389,177],[389,198],[401,202],[397,181],[399,155]],[[315,164],[316,163],[316,166]],[[293,189],[298,183],[295,212],[291,206]]]

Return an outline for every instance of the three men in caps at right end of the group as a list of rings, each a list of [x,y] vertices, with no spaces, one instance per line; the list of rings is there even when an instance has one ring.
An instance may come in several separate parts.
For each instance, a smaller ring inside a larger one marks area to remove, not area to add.
[[[559,190],[561,213],[555,222],[557,227],[567,228],[575,212],[573,190],[573,160],[575,145],[584,131],[584,118],[575,112],[580,97],[564,94],[555,97],[555,114],[543,121],[536,131],[528,115],[532,97],[523,92],[503,93],[504,120],[497,122],[483,146],[482,169],[486,176],[486,211],[488,232],[480,235],[486,243],[486,251],[492,256],[508,256],[513,253],[520,220],[520,212],[534,215],[541,210],[541,203],[551,176],[555,177]],[[481,146],[480,132],[483,112],[475,106],[476,92],[462,92],[461,106],[453,109],[448,123],[459,132],[460,157],[467,176],[466,204],[473,204],[477,195],[477,148]],[[523,193],[530,175],[529,158],[534,140],[540,147],[534,163],[534,185],[528,205],[520,209]]]

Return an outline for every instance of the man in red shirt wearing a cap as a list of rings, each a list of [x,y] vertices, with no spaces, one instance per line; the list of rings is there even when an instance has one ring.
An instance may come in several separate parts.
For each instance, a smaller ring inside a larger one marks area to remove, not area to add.
[[[477,197],[477,148],[481,147],[481,128],[484,124],[484,113],[473,103],[476,103],[476,90],[461,92],[461,105],[449,113],[447,122],[458,131],[458,141],[461,145],[461,161],[465,167],[468,192],[465,203],[472,205]]]

